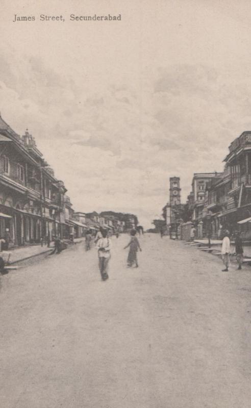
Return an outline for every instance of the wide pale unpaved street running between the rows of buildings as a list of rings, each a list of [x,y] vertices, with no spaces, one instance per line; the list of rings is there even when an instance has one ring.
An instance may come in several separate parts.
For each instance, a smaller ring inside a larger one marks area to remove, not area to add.
[[[251,268],[146,234],[84,243],[1,277],[1,407],[249,408]]]

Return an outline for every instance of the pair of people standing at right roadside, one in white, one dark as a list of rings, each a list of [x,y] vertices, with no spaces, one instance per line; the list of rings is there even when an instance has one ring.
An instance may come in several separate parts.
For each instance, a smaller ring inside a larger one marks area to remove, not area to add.
[[[229,270],[229,265],[230,265],[230,232],[228,230],[223,231],[223,240],[222,240],[222,245],[221,245],[221,255],[222,255],[222,261],[223,264],[225,265],[225,268],[222,269],[222,272],[228,272]],[[236,260],[238,263],[238,270],[241,269],[241,265],[243,262],[243,246],[242,246],[242,239],[241,239],[241,233],[237,232],[236,233],[236,238],[235,238],[235,253],[236,253]]]

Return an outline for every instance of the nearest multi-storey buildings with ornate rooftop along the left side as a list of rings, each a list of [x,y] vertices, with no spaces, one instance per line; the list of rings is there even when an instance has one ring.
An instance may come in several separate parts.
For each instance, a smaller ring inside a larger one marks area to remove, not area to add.
[[[20,137],[0,116],[0,235],[14,245],[62,236],[66,191],[28,130]]]

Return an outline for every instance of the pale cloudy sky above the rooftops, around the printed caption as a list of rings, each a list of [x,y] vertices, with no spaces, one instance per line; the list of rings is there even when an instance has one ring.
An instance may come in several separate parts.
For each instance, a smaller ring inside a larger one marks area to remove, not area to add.
[[[149,227],[170,176],[185,202],[193,172],[221,171],[251,130],[251,3],[51,3],[1,0],[2,117],[29,128],[74,209],[133,212]],[[121,21],[69,20],[108,13]]]

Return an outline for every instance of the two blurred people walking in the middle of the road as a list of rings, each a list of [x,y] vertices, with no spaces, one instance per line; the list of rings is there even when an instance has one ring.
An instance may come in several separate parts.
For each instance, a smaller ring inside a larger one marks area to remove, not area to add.
[[[128,259],[127,259],[128,267],[132,267],[135,265],[135,267],[138,268],[137,251],[138,249],[141,251],[141,247],[140,247],[138,238],[136,237],[136,234],[137,234],[136,230],[131,231],[130,242],[128,243],[128,245],[124,247],[124,249],[128,247],[130,248]],[[108,235],[107,230],[101,228],[100,231],[98,231],[98,233],[96,234],[94,242],[96,244],[97,253],[98,253],[99,271],[101,273],[102,280],[106,281],[109,278],[108,266],[109,266],[109,261],[111,259],[111,248],[112,248],[112,241]]]

